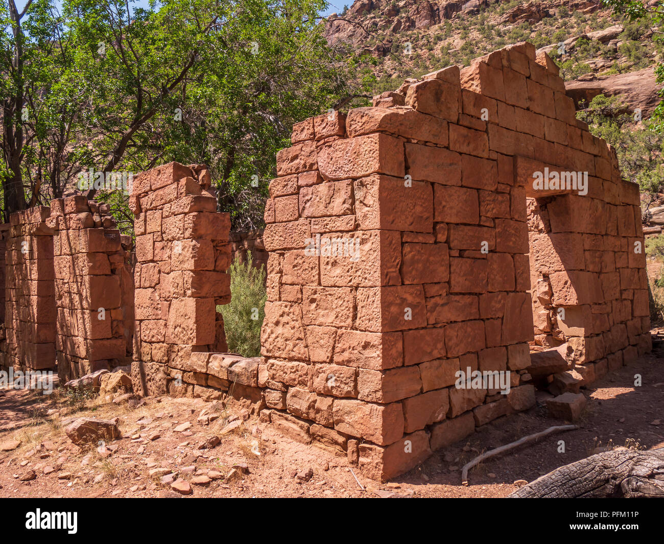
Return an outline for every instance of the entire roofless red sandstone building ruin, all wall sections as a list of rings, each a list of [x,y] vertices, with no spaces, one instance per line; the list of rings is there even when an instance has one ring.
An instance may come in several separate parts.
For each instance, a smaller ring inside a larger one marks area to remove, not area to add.
[[[531,352],[591,383],[649,351],[637,186],[533,46],[406,80],[291,141],[266,203],[262,357],[225,353],[217,312],[232,252],[260,236],[229,236],[206,167],[169,163],[134,180],[135,255],[84,197],[11,216],[0,363],[57,359],[69,379],[131,358],[136,393],[232,396],[386,479],[531,407]],[[588,194],[535,191],[544,167],[588,172]],[[457,388],[466,369],[509,371],[509,394]]]

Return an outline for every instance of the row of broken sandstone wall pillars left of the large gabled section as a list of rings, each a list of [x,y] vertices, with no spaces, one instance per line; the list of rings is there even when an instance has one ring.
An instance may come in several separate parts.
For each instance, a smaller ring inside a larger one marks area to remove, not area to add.
[[[0,240],[0,366],[57,369],[64,383],[131,365],[143,395],[224,392],[259,407],[258,358],[225,353],[216,310],[230,301],[230,220],[216,212],[207,169],[170,163],[141,173],[130,207],[135,252],[109,205],[83,195],[11,216]],[[259,248],[254,262],[266,260],[260,234],[238,240]]]

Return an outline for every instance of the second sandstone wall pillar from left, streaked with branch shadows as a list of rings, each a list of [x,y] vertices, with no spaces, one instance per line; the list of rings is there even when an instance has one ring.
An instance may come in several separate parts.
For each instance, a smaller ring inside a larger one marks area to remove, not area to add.
[[[131,237],[120,234],[108,204],[83,195],[55,199],[56,352],[62,381],[131,363]]]

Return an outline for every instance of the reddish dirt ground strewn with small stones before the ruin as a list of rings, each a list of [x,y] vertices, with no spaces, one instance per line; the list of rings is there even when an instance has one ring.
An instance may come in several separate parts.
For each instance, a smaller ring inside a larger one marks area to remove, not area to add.
[[[0,497],[182,496],[171,490],[169,482],[175,478],[190,483],[189,497],[504,497],[517,488],[516,480],[530,482],[602,448],[664,446],[662,360],[654,352],[582,389],[588,407],[578,430],[481,463],[471,470],[467,487],[461,486],[461,467],[481,452],[562,424],[547,416],[546,393],[538,393],[531,410],[495,420],[407,474],[380,484],[357,468],[351,472],[345,457],[293,442],[256,416],[244,420],[248,413],[239,407],[170,397],[129,407],[74,399],[63,389],[52,395],[4,389],[0,449],[11,440],[21,444],[0,450]],[[634,385],[637,374],[640,387]],[[208,424],[205,417],[199,420],[201,412],[210,416]],[[106,450],[79,448],[64,426],[80,416],[119,417],[123,436]],[[187,422],[189,428],[176,430]],[[220,436],[220,443],[199,449],[212,436]],[[558,452],[559,440],[564,440],[564,453]],[[30,471],[35,478],[21,481]],[[164,477],[167,472],[171,476]]]

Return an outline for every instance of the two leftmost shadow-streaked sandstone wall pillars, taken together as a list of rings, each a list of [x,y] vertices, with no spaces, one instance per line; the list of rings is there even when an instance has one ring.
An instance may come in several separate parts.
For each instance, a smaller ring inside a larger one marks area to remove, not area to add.
[[[0,366],[57,369],[64,383],[131,362],[131,237],[108,211],[79,195],[11,215]]]

